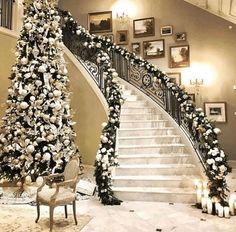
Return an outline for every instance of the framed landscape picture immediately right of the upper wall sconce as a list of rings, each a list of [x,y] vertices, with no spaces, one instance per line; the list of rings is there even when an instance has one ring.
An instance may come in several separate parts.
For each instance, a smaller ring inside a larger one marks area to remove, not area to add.
[[[133,20],[134,38],[155,35],[155,19],[143,18]]]

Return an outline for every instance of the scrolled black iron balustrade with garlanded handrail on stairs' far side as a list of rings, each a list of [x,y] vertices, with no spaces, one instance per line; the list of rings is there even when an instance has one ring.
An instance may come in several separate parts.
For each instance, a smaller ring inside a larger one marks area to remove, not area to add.
[[[187,134],[196,150],[199,160],[209,177],[210,196],[217,196],[221,202],[225,199],[227,189],[225,176],[230,171],[227,157],[222,153],[218,145],[215,128],[204,116],[202,110],[198,110],[191,97],[178,85],[171,82],[167,75],[155,68],[148,61],[129,53],[104,37],[90,35],[84,28],[78,25],[70,14],[65,14],[73,25],[73,28],[63,28],[64,43],[84,65],[88,72],[100,87],[104,95],[103,67],[97,62],[98,52],[106,52],[112,60],[111,66],[118,72],[119,77],[134,85],[147,96],[160,105],[178,123]],[[82,29],[81,29],[82,28]],[[79,36],[75,32],[79,31]],[[98,43],[99,47],[84,46],[85,43]],[[211,159],[212,150],[221,155],[222,161],[217,163],[217,169],[213,169],[207,159]],[[225,169],[222,171],[220,165]]]

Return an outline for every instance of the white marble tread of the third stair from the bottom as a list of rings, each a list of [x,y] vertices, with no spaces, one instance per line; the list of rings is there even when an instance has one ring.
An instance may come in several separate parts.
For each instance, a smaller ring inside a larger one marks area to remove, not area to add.
[[[122,164],[117,169],[195,168],[194,164]]]

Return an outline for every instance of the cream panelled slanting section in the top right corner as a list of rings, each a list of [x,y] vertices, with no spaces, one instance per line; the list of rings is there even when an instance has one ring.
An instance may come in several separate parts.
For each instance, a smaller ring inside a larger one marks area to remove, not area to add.
[[[236,24],[236,0],[184,0]]]

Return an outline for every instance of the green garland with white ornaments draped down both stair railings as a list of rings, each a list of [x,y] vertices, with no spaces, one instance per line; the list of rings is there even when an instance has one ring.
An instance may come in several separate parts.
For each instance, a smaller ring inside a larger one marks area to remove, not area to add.
[[[205,164],[206,175],[209,178],[208,187],[209,187],[209,197],[216,198],[217,201],[222,205],[227,205],[226,202],[226,191],[228,190],[225,177],[231,171],[231,168],[227,162],[227,155],[224,153],[218,142],[218,134],[220,129],[215,128],[214,125],[204,115],[204,112],[201,108],[196,108],[191,101],[191,97],[183,88],[173,83],[170,78],[162,71],[160,71],[153,64],[150,64],[148,61],[144,60],[141,57],[135,55],[135,53],[130,53],[126,48],[121,48],[116,44],[112,43],[109,38],[102,36],[90,35],[89,32],[78,25],[72,18],[69,12],[63,12],[64,20],[70,24],[71,30],[78,35],[78,39],[86,41],[86,46],[92,48],[96,47],[100,52],[101,51],[113,51],[120,56],[127,59],[131,65],[136,65],[137,67],[144,68],[149,74],[153,75],[152,85],[159,84],[166,86],[174,95],[179,104],[180,110],[182,113],[182,121],[187,126],[188,131],[197,144],[198,150],[202,154],[202,158]],[[102,52],[100,53],[102,54]],[[103,55],[97,58],[99,61],[104,61],[107,63],[107,66],[110,66],[110,61],[108,58],[104,58]],[[108,71],[108,70],[107,70]],[[113,192],[110,189],[111,178],[109,170],[112,166],[117,165],[116,155],[115,155],[115,130],[119,127],[119,111],[120,111],[120,101],[122,97],[118,91],[118,87],[113,87],[112,81],[113,71],[111,69],[108,71],[107,80],[108,88],[115,88],[114,92],[110,92],[110,97],[107,98],[109,107],[117,109],[117,112],[113,110],[110,111],[109,118],[117,120],[115,123],[112,123],[110,120],[108,124],[104,125],[103,135],[101,136],[100,149],[96,157],[96,181],[99,189],[99,197],[102,199],[104,204],[112,204],[113,201]],[[116,74],[115,74],[116,76]],[[117,86],[115,83],[114,86]],[[112,99],[111,96],[115,96]],[[110,99],[110,100],[109,100]],[[111,100],[112,99],[112,100]],[[114,107],[114,106],[117,106]],[[113,109],[112,108],[112,109]],[[117,117],[114,116],[117,114]],[[110,116],[113,115],[113,116]],[[107,142],[108,140],[108,142]],[[109,159],[107,160],[107,151],[110,152]],[[106,164],[106,168],[105,165]],[[101,166],[104,165],[104,169]],[[106,170],[109,170],[108,172]],[[104,192],[105,191],[105,192]]]

